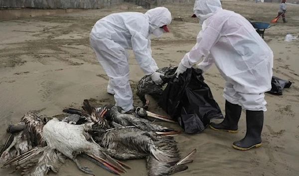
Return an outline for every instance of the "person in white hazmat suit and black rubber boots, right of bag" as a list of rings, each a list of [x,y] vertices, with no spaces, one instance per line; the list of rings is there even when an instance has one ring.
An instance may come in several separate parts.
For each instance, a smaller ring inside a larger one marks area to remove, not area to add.
[[[225,118],[211,123],[217,131],[236,133],[242,108],[246,110],[247,132],[233,143],[238,150],[262,145],[261,132],[266,111],[265,92],[271,90],[273,52],[252,24],[233,11],[222,9],[220,0],[196,0],[194,14],[202,30],[195,46],[184,55],[176,76],[196,64],[205,72],[214,63],[225,79]]]

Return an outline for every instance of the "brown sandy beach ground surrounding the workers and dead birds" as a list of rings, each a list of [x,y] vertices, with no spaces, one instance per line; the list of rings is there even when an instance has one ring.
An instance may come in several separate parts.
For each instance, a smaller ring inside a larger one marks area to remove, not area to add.
[[[152,56],[158,67],[178,65],[196,43],[201,26],[191,18],[193,4],[165,4],[173,18],[170,33],[152,37]],[[242,14],[251,21],[270,22],[277,16],[279,3],[254,1],[223,1],[223,8]],[[275,26],[266,29],[264,40],[274,52],[273,74],[293,84],[283,95],[266,93],[268,111],[262,132],[263,145],[250,151],[237,151],[232,143],[245,136],[246,118],[242,112],[239,132],[229,134],[210,128],[200,134],[181,134],[175,137],[182,155],[194,148],[197,153],[189,169],[173,176],[298,176],[299,174],[299,39],[284,41],[287,33],[299,35],[299,6],[287,4],[288,23],[280,18]],[[8,138],[6,128],[17,123],[24,113],[34,110],[38,115],[60,117],[64,108],[81,109],[84,99],[93,105],[114,103],[106,93],[108,77],[89,44],[94,23],[114,12],[140,11],[130,3],[111,8],[84,10],[61,15],[33,16],[0,21],[0,145]],[[137,82],[144,76],[130,51],[130,80],[134,104],[141,106],[136,92]],[[213,65],[205,74],[214,99],[225,114],[222,97],[224,79]],[[150,101],[150,111],[164,112]],[[221,120],[220,120],[221,121]],[[176,129],[180,127],[162,123]],[[79,158],[97,176],[113,176],[93,163]],[[126,161],[133,169],[123,176],[146,176],[145,160]],[[0,169],[0,176],[19,176],[14,169]],[[49,176],[88,176],[68,160],[58,174]]]

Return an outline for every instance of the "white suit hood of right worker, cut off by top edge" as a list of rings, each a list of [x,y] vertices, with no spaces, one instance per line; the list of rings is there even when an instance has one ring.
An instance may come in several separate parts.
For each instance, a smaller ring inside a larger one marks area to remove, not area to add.
[[[192,17],[198,17],[199,23],[202,24],[219,9],[222,9],[220,0],[195,0]]]

